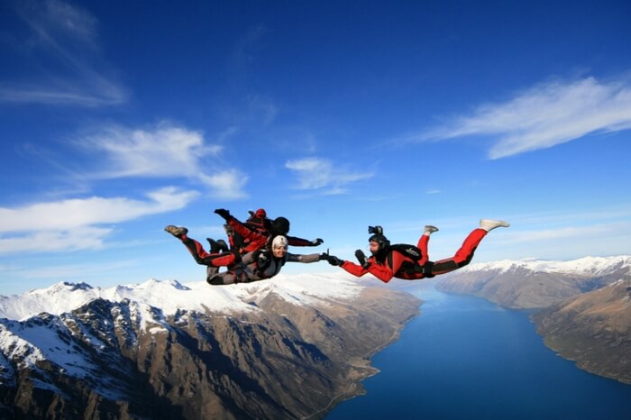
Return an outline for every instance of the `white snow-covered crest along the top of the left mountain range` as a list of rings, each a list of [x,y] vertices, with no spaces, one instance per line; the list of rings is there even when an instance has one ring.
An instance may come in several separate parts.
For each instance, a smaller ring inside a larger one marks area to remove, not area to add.
[[[343,273],[341,273],[343,274]],[[178,310],[224,313],[256,311],[251,306],[253,297],[275,293],[296,305],[309,305],[329,297],[353,297],[362,287],[349,275],[294,275],[291,281],[280,274],[273,282],[262,281],[235,285],[234,287],[210,287],[206,282],[186,285],[177,280],[159,281],[149,279],[142,284],[93,288],[86,283],[60,282],[31,290],[23,295],[0,295],[0,317],[23,320],[41,312],[61,315],[94,299],[122,302],[127,299],[139,306],[160,308],[164,315],[173,315]]]

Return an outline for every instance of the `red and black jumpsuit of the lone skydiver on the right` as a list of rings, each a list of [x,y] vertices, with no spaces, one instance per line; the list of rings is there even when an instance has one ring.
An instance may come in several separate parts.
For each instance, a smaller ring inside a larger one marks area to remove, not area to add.
[[[462,242],[462,246],[456,251],[455,255],[444,260],[434,262],[428,260],[427,242],[429,241],[429,236],[423,235],[418,241],[418,248],[422,253],[421,260],[412,260],[399,251],[389,250],[387,256],[383,259],[377,260],[375,256],[371,256],[365,269],[351,261],[344,261],[340,267],[357,277],[370,273],[385,283],[388,283],[393,277],[406,280],[434,277],[454,269],[460,269],[469,264],[473,258],[473,253],[486,234],[487,231],[484,229],[474,229]]]

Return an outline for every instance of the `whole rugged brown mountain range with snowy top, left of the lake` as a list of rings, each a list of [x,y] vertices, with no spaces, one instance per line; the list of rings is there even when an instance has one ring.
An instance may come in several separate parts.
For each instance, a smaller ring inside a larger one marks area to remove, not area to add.
[[[0,417],[322,418],[418,305],[317,275],[0,297]]]

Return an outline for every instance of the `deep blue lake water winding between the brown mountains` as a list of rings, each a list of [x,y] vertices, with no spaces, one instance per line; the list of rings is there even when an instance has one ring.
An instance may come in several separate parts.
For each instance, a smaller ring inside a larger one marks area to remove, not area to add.
[[[421,315],[374,356],[380,373],[363,381],[367,395],[326,420],[631,418],[631,385],[556,356],[526,312],[432,283],[411,293],[425,301]]]

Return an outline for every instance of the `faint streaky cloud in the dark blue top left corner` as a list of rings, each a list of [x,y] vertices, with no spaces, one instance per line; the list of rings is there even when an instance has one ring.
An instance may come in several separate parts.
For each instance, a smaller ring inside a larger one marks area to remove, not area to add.
[[[60,0],[13,5],[28,29],[28,38],[14,45],[13,59],[28,59],[32,72],[2,81],[0,102],[101,106],[126,101],[125,89],[105,74],[108,66],[92,14]]]

